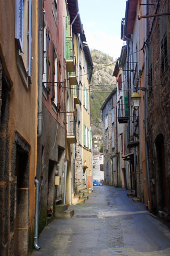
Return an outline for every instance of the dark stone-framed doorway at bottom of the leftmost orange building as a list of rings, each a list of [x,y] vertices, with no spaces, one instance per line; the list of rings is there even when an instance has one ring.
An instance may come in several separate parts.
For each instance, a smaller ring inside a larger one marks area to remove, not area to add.
[[[14,256],[28,255],[29,155],[16,146]]]

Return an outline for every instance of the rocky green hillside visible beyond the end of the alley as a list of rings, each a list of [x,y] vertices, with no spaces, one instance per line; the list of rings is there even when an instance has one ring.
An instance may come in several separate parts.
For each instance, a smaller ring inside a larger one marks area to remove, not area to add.
[[[115,61],[113,57],[96,49],[91,51],[91,56],[94,62],[90,98],[92,134],[102,135],[100,108],[115,87],[115,79],[112,76],[114,69],[112,63]]]

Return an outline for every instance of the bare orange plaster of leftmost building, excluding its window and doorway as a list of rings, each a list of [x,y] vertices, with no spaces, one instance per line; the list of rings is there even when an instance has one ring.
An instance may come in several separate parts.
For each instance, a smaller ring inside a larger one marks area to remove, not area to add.
[[[16,64],[16,57],[19,54],[16,51],[15,46],[15,1],[5,1],[0,3],[0,57],[2,60],[3,70],[8,81],[11,84],[10,97],[8,98],[8,127],[7,127],[7,141],[6,149],[7,154],[5,156],[8,162],[8,167],[6,168],[6,179],[2,178],[2,187],[5,189],[5,193],[15,187],[15,161],[16,152],[14,151],[15,144],[15,134],[17,133],[20,138],[30,147],[29,151],[29,186],[28,186],[28,211],[29,211],[29,223],[27,233],[32,236],[33,232],[33,222],[35,214],[35,174],[36,174],[36,158],[37,158],[37,42],[38,42],[38,13],[37,13],[37,1],[33,2],[32,8],[32,22],[33,30],[32,34],[32,84],[27,84],[25,86],[23,82],[23,77],[19,73],[18,66]],[[27,55],[27,52],[25,52]],[[23,60],[25,63],[25,60]],[[25,64],[24,64],[25,65]],[[24,68],[24,66],[23,66]],[[25,75],[26,76],[26,75]],[[26,78],[27,80],[27,78]],[[14,219],[14,197],[9,194],[7,203],[7,212],[3,213],[8,216],[8,223],[5,226],[6,232],[2,234],[7,239],[6,249],[8,253],[14,249],[13,246],[13,234],[14,226],[12,223]],[[11,218],[10,218],[11,215]],[[11,225],[11,228],[8,228]],[[10,230],[10,231],[9,231]],[[25,235],[27,236],[27,234]],[[29,236],[29,235],[28,235]],[[0,246],[1,247],[1,246]],[[2,247],[1,247],[2,248]],[[30,249],[30,248],[29,248]],[[24,243],[24,251],[28,251],[28,244]],[[4,251],[1,255],[4,254]]]

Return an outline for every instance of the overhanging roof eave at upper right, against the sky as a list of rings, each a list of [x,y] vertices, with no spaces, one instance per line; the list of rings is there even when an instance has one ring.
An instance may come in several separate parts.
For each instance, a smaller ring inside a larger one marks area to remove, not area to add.
[[[137,16],[138,0],[128,0],[126,2],[126,14],[125,14],[125,35],[129,36],[133,34],[134,22]]]

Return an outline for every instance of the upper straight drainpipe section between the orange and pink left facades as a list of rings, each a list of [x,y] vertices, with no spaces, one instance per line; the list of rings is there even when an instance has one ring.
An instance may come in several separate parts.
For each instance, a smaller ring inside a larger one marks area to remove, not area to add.
[[[39,138],[42,134],[42,52],[43,52],[43,18],[42,0],[39,0],[39,95],[38,95],[38,133]]]

